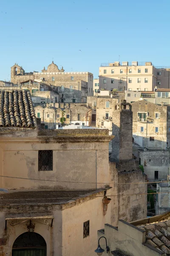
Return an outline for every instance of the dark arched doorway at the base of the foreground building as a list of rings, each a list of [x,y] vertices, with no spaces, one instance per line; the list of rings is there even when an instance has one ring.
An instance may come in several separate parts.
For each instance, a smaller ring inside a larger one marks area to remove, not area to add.
[[[46,242],[35,232],[23,233],[14,241],[12,256],[46,256]]]

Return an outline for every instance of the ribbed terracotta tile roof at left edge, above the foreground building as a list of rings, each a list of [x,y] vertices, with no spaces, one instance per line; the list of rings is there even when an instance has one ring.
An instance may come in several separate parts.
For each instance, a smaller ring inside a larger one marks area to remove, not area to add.
[[[26,90],[0,90],[0,127],[36,127],[31,94]]]

